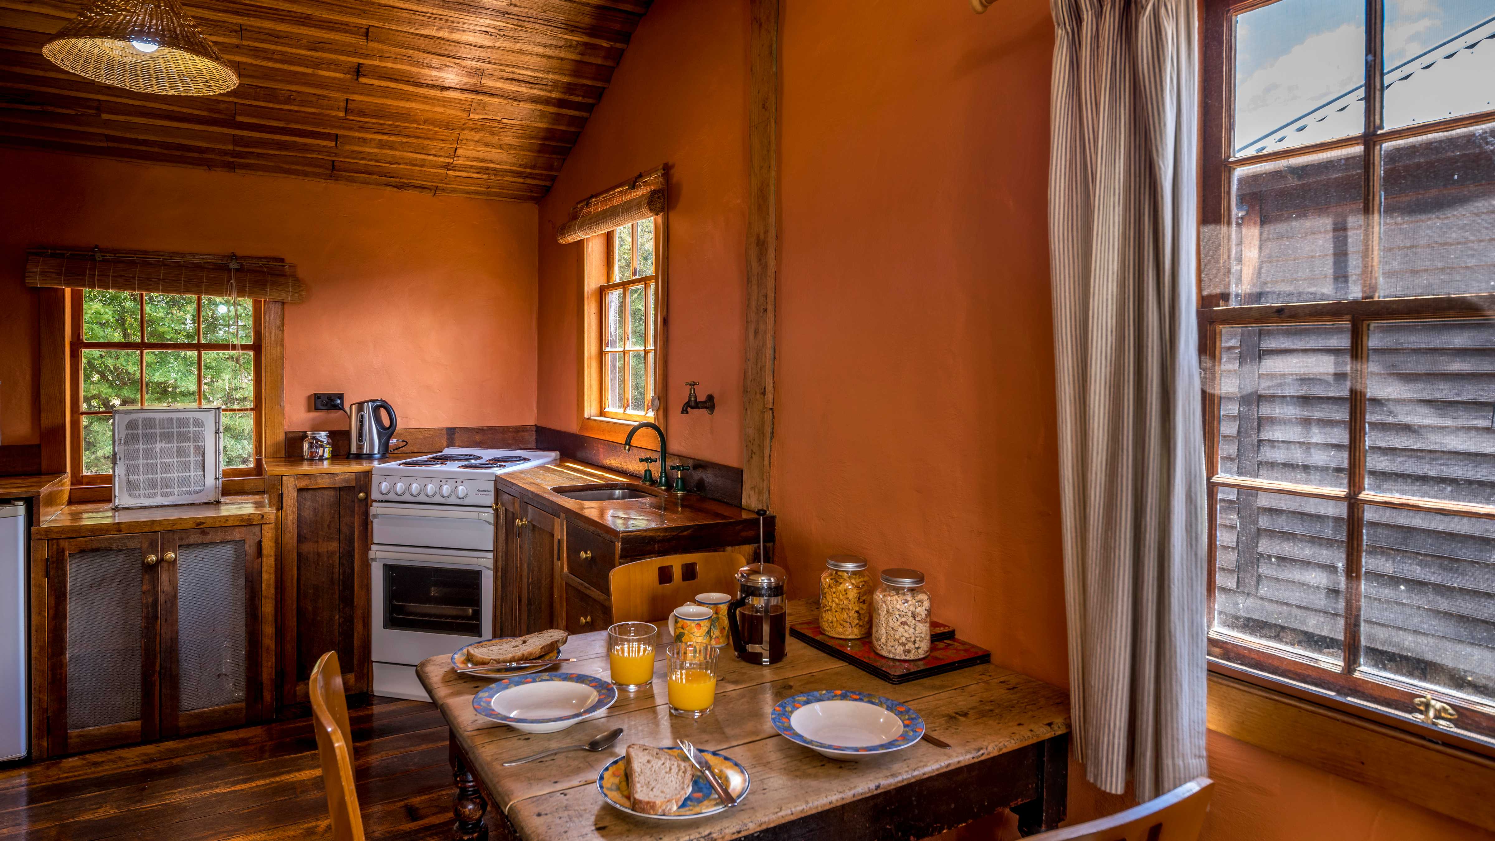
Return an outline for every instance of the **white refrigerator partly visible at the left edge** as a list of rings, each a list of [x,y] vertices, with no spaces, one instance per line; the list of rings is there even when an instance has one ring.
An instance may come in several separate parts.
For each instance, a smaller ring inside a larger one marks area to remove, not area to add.
[[[0,762],[25,756],[25,503],[0,501]]]

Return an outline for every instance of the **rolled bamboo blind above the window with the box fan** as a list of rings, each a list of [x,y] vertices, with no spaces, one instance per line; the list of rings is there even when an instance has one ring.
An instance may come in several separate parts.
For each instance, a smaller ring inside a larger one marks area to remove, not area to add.
[[[292,304],[306,298],[295,263],[233,254],[31,248],[25,253],[25,284],[218,298],[236,293]]]

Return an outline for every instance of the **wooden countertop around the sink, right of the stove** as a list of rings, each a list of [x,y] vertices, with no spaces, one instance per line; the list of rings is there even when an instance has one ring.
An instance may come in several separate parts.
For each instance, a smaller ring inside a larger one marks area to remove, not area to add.
[[[553,515],[585,521],[598,534],[622,542],[625,558],[640,552],[656,555],[673,551],[671,540],[697,545],[703,539],[719,540],[713,543],[716,546],[758,542],[758,515],[698,494],[583,501],[552,491],[568,485],[617,482],[637,483],[638,477],[570,458],[498,476],[501,491],[523,495],[526,501]],[[764,518],[765,540],[773,540],[773,516]]]

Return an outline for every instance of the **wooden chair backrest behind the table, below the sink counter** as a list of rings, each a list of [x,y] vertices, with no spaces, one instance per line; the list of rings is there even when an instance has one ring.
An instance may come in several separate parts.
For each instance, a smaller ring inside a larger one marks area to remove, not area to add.
[[[608,573],[614,623],[658,623],[700,593],[737,593],[737,570],[752,563],[752,548],[695,552],[631,561]]]

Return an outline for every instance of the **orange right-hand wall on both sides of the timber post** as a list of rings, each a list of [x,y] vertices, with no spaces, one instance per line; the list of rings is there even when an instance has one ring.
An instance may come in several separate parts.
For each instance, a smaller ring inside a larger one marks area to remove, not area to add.
[[[580,248],[550,229],[576,199],[664,160],[671,365],[691,367],[671,382],[700,379],[724,406],[707,426],[671,416],[671,438],[740,464],[745,6],[656,0],[541,205],[541,423],[576,416]],[[800,594],[831,554],[924,569],[963,636],[1067,684],[1048,3],[1003,0],[978,18],[955,0],[785,0],[780,46],[779,560]],[[1209,750],[1209,841],[1480,837],[1224,736]],[[1126,804],[1072,768],[1072,817]]]

